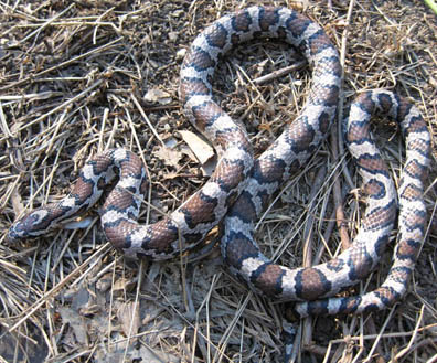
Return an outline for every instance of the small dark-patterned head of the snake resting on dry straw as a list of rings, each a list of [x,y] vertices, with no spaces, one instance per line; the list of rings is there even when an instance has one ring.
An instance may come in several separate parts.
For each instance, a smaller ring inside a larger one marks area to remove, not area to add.
[[[50,228],[47,214],[49,212],[42,209],[25,214],[9,228],[7,241],[14,242],[18,239],[36,237],[46,233]]]

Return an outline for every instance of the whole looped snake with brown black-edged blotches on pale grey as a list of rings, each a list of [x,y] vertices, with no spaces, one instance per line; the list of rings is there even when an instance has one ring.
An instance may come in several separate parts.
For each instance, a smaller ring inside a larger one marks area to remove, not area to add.
[[[285,126],[283,134],[259,158],[254,159],[246,130],[213,99],[212,82],[217,64],[227,52],[237,44],[258,38],[276,39],[300,51],[311,68],[312,82],[298,117]],[[297,307],[302,314],[317,313],[317,310],[331,312],[333,307],[344,305],[329,297],[362,280],[376,267],[396,216],[396,190],[381,157],[367,142],[370,138],[364,130],[369,127],[360,124],[361,118],[367,115],[367,104],[390,109],[387,114],[403,115],[407,119],[401,121],[401,126],[406,125],[408,152],[413,153],[411,167],[406,169],[409,179],[405,178],[407,181],[403,184],[404,194],[407,194],[403,206],[408,210],[403,218],[406,229],[409,225],[418,225],[416,229],[423,232],[424,221],[419,218],[423,216],[423,205],[419,206],[423,188],[419,180],[428,163],[430,143],[426,124],[416,108],[407,106],[408,103],[388,92],[358,98],[358,106],[353,108],[358,117],[348,140],[350,145],[362,143],[362,149],[354,154],[367,193],[367,207],[360,232],[350,248],[326,264],[297,269],[274,264],[262,254],[253,237],[254,221],[270,196],[327,138],[337,113],[341,77],[342,67],[335,46],[319,24],[299,12],[256,6],[224,15],[194,39],[180,72],[179,97],[184,113],[218,154],[210,180],[174,212],[154,224],[141,225],[138,223],[141,195],[149,184],[146,167],[129,150],[109,149],[85,163],[65,199],[18,218],[8,231],[7,238],[13,242],[36,237],[58,228],[72,216],[92,207],[105,185],[118,175],[117,184],[102,207],[100,222],[106,238],[127,257],[171,258],[193,248],[222,222],[222,255],[233,274],[269,298],[300,301]],[[413,204],[412,210],[406,204]],[[406,284],[408,273],[403,269],[412,269],[412,256],[417,252],[422,236],[419,232],[414,237],[405,234],[406,242],[404,238],[397,244],[395,271],[387,281],[390,289],[395,282]],[[405,266],[396,265],[405,259],[408,259]],[[375,292],[373,299],[383,300],[380,292]],[[309,305],[305,305],[308,301]],[[345,308],[335,312],[342,311]]]

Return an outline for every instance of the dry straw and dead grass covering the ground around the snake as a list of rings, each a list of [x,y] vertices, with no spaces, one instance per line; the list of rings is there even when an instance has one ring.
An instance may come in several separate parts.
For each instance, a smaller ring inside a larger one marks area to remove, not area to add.
[[[437,25],[422,1],[360,1],[350,12],[349,1],[275,4],[305,11],[337,43],[345,102],[362,89],[395,89],[415,100],[435,134]],[[180,54],[205,24],[238,6],[1,1],[0,241],[22,211],[65,195],[84,161],[108,147],[141,154],[152,181],[148,202],[162,213],[198,189],[205,177],[177,134],[192,130],[177,96]],[[245,120],[257,153],[299,114],[311,75],[303,68],[263,84],[249,79],[300,60],[285,45],[259,41],[232,52],[217,71],[217,99]],[[148,102],[151,89],[164,93]],[[397,178],[402,142],[392,126],[380,125],[377,135]],[[332,140],[258,225],[263,249],[285,265],[326,260],[353,234],[335,227],[334,197],[347,218],[360,217],[350,184],[335,173],[343,150],[335,156]],[[431,172],[430,214],[436,180]],[[145,205],[145,223],[159,218],[154,210]],[[0,245],[1,362],[283,361],[288,306],[248,292],[222,266],[217,246],[210,243],[200,256],[128,264],[105,243],[96,211],[89,215],[87,229]],[[402,302],[370,316],[301,321],[298,360],[437,361],[436,231],[429,229]],[[390,260],[387,253],[351,292],[379,285]]]

